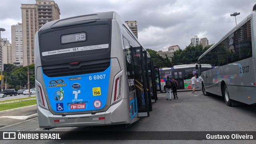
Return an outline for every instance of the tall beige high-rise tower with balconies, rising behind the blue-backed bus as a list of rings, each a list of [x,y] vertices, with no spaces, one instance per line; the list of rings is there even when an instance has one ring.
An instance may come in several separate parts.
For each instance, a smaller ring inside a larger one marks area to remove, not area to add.
[[[60,9],[53,0],[36,0],[21,4],[23,65],[34,64],[34,36],[46,22],[60,19]]]

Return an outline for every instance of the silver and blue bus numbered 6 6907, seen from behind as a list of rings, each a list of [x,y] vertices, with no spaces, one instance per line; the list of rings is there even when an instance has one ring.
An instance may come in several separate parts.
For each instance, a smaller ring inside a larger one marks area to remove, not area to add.
[[[157,98],[150,72],[150,55],[116,12],[47,22],[35,41],[39,126],[132,124],[148,117]]]

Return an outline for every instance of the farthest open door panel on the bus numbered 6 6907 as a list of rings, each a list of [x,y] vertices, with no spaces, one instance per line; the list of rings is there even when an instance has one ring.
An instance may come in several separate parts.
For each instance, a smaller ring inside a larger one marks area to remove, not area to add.
[[[156,86],[155,86],[155,80],[156,80],[156,75],[155,75],[155,70],[154,70],[154,62],[152,58],[148,58],[148,75],[149,75],[149,85],[150,85],[150,96],[151,96],[151,101],[156,102],[157,100],[157,92],[156,92]]]

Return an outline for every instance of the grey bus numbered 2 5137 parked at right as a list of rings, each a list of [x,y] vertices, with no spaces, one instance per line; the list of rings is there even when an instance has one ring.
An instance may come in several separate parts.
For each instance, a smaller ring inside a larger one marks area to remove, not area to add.
[[[223,96],[227,106],[235,101],[256,103],[256,11],[249,14],[220,41],[198,58],[200,88],[204,95]],[[212,68],[202,68],[209,64]]]

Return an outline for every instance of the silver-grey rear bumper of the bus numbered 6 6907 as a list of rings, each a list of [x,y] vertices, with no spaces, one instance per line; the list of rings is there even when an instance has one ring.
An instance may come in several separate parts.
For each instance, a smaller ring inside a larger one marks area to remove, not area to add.
[[[123,99],[110,106],[106,112],[96,114],[54,115],[49,110],[38,106],[40,128],[104,126],[112,124],[129,124],[128,99]]]

